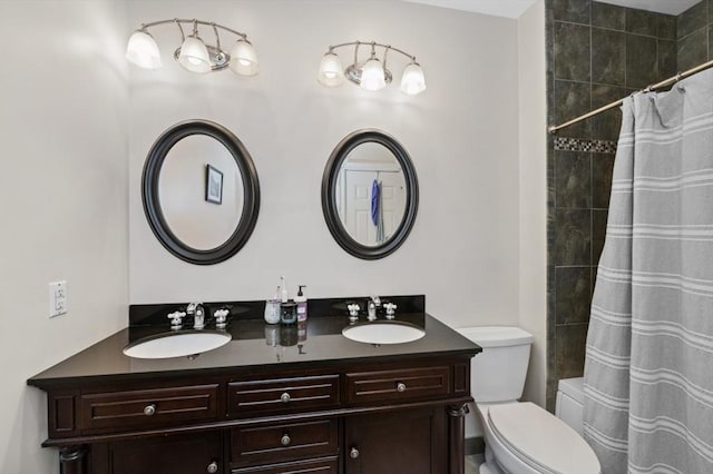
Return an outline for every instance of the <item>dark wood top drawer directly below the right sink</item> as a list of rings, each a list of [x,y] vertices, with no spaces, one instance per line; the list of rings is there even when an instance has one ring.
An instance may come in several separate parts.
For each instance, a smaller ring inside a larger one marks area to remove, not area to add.
[[[346,374],[346,401],[412,401],[450,393],[450,367],[398,368]]]

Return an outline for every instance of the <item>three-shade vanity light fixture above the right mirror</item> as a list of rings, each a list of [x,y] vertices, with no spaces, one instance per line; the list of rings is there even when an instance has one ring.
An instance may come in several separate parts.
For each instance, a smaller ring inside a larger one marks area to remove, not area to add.
[[[362,45],[371,46],[370,56],[365,60],[363,58],[359,58],[359,47]],[[354,62],[344,69],[334,50],[351,46],[354,47]],[[381,60],[377,57],[377,47],[383,49]],[[340,86],[344,81],[344,78],[346,78],[362,89],[383,89],[393,79],[391,71],[387,69],[387,56],[389,51],[399,52],[409,58],[410,61],[401,75],[401,91],[409,96],[414,96],[424,91],[426,79],[423,77],[423,70],[421,69],[421,66],[416,62],[416,57],[390,45],[382,45],[375,41],[351,41],[330,46],[320,62],[318,81],[322,86],[335,87]]]

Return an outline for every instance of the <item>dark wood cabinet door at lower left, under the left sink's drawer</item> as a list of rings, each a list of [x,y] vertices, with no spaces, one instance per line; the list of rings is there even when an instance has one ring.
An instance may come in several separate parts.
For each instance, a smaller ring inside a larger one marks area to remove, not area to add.
[[[94,474],[222,473],[221,433],[194,433],[94,445]]]

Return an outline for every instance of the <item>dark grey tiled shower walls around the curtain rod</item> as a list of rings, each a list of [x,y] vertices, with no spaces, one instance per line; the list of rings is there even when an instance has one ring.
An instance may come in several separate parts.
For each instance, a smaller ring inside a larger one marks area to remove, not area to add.
[[[546,0],[548,122],[561,124],[713,53],[713,0],[673,17],[592,0]],[[548,142],[547,408],[580,376],[621,111]]]

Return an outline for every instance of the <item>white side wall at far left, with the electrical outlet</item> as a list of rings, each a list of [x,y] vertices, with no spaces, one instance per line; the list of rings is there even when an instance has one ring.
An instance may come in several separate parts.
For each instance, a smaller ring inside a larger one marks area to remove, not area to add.
[[[0,1],[0,473],[57,472],[26,379],[126,324],[125,4]],[[48,317],[48,283],[69,313]]]

